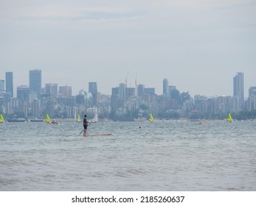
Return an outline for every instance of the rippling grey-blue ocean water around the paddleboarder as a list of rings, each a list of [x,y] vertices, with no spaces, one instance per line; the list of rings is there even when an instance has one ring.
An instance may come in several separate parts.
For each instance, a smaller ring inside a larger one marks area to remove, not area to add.
[[[256,121],[60,123],[0,124],[0,191],[256,191]]]

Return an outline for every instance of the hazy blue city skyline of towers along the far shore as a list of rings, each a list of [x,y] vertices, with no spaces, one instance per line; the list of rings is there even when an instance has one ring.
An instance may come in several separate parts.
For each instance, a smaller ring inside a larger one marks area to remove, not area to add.
[[[224,118],[225,113],[239,113],[256,108],[255,86],[249,88],[249,98],[244,99],[243,72],[237,72],[233,77],[233,96],[215,97],[201,94],[192,97],[189,92],[177,90],[176,86],[169,85],[167,79],[162,82],[162,95],[157,95],[155,88],[147,88],[142,84],[130,88],[127,79],[125,83],[111,88],[111,96],[99,93],[97,82],[89,82],[89,90],[80,90],[74,95],[72,86],[58,87],[57,83],[48,83],[42,88],[41,74],[41,70],[30,70],[30,86],[18,86],[17,98],[12,98],[11,92],[4,92],[4,80],[0,79],[1,112],[9,118],[42,118],[44,113],[72,118],[77,113],[93,113],[99,109],[103,117],[133,121],[139,114],[144,113],[144,116],[147,116],[150,111],[162,118]],[[7,88],[12,86],[8,81]]]

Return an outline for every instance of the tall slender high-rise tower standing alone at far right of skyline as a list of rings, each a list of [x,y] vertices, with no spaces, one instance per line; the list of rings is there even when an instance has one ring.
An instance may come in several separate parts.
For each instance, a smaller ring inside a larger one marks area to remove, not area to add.
[[[243,108],[244,96],[243,96],[243,72],[238,72],[233,78],[234,86],[234,97],[238,97],[238,107],[239,109]]]

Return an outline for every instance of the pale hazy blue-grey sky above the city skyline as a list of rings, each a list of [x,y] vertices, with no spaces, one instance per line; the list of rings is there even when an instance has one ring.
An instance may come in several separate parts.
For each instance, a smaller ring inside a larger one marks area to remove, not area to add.
[[[125,82],[162,94],[169,80],[193,96],[232,95],[244,73],[256,86],[255,0],[0,0],[0,79],[15,90],[42,70],[42,86],[97,82],[101,93]]]

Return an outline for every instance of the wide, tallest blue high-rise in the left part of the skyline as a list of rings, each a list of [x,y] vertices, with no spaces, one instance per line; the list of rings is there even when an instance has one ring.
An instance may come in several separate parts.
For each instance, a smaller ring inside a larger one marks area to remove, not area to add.
[[[41,97],[42,88],[42,73],[41,70],[30,70],[30,92],[38,94],[38,99]]]

